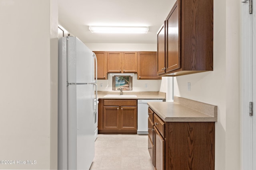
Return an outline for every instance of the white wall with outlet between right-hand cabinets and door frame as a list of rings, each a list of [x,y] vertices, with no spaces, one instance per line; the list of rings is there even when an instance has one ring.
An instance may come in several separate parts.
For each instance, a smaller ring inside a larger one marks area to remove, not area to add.
[[[240,4],[214,0],[214,71],[174,78],[174,95],[218,106],[216,170],[240,170],[241,164]]]

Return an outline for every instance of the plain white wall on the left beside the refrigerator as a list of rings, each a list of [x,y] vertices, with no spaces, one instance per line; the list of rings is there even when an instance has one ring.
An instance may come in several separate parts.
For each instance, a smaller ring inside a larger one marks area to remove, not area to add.
[[[58,21],[58,12],[52,12],[56,2],[0,0],[0,160],[15,161],[0,164],[0,169],[57,167],[57,162],[50,162],[56,160],[57,142],[57,122],[52,118],[57,115],[58,55],[50,41],[55,31],[54,25],[50,31],[50,18]]]

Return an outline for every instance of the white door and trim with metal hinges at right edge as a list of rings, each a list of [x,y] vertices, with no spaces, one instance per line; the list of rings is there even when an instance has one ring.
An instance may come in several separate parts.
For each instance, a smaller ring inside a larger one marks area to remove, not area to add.
[[[256,170],[256,11],[249,14],[249,1],[242,3],[242,170]]]

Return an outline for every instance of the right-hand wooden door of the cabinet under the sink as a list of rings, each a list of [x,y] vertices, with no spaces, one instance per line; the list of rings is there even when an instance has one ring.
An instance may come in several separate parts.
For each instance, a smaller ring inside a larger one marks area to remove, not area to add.
[[[120,106],[120,129],[137,130],[136,106]]]

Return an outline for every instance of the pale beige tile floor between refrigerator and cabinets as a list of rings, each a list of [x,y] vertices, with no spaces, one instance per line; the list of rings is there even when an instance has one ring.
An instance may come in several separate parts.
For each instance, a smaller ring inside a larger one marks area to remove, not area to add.
[[[148,135],[98,135],[90,170],[154,170]]]

